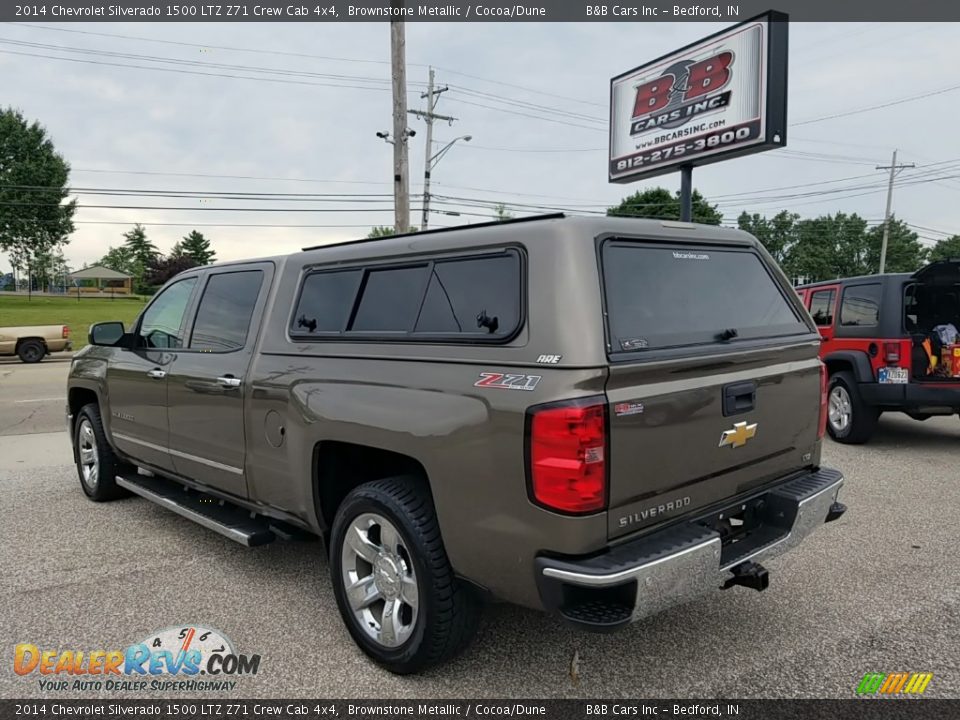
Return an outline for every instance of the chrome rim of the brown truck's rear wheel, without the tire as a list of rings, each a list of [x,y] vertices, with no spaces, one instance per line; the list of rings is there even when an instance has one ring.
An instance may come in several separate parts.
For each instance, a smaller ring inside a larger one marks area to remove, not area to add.
[[[397,528],[382,515],[358,515],[344,535],[340,563],[347,602],[360,627],[384,647],[403,645],[417,624],[420,593]]]

